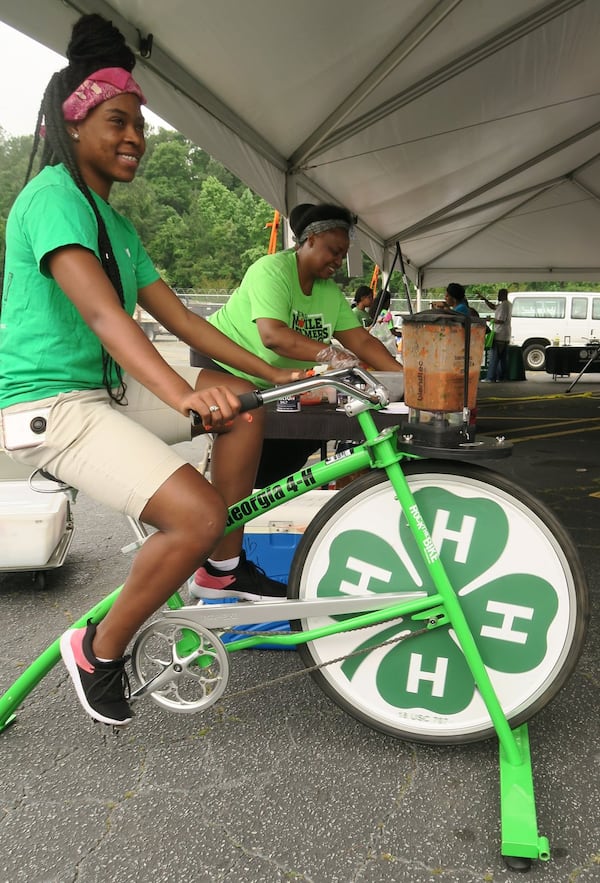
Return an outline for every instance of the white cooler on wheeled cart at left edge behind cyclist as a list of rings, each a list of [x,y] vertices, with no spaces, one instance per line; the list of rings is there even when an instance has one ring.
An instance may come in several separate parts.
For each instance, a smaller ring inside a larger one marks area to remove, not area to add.
[[[46,564],[67,517],[65,494],[38,493],[26,481],[0,481],[0,568]]]

